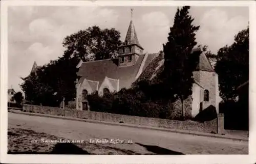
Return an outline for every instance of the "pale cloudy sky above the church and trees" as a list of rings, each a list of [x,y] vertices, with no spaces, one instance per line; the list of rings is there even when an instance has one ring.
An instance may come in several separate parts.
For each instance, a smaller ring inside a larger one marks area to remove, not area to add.
[[[21,91],[20,77],[29,75],[33,63],[44,65],[61,57],[63,39],[89,26],[115,28],[124,40],[133,21],[144,52],[159,52],[166,43],[177,7],[66,7],[12,6],[8,9],[8,87]],[[231,45],[249,23],[247,7],[191,7],[194,25],[200,25],[198,44],[214,53]]]

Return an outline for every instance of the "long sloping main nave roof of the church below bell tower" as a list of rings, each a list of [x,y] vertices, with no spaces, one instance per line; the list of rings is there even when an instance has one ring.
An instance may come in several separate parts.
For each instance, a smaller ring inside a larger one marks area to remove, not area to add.
[[[156,53],[148,54],[144,68],[150,63]],[[78,76],[81,76],[80,81],[84,78],[93,81],[99,81],[100,87],[105,77],[119,79],[119,89],[130,88],[132,83],[136,80],[136,75],[139,71],[141,63],[145,54],[141,54],[133,66],[119,67],[118,59],[99,60],[93,62],[84,62],[81,64]],[[114,81],[112,81],[114,82]],[[113,84],[114,86],[116,84]]]

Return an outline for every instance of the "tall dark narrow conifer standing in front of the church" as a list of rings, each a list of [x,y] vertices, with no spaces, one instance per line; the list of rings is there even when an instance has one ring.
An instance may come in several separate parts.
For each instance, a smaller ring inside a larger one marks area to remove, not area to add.
[[[182,117],[184,117],[184,100],[192,94],[194,83],[193,71],[199,62],[201,51],[192,52],[197,44],[195,32],[200,26],[192,24],[189,6],[177,9],[174,25],[170,28],[168,42],[163,45],[164,70],[160,78],[166,86],[167,93],[174,93],[181,100]]]

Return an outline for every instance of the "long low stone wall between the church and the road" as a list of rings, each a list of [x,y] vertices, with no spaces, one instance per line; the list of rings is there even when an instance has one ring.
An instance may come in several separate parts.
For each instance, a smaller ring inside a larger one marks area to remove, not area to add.
[[[167,120],[167,119],[158,119],[158,118],[146,118],[138,116],[127,116],[127,115],[118,115],[102,112],[92,112],[92,111],[78,111],[65,108],[65,110],[57,107],[49,106],[38,106],[38,105],[29,105],[23,104],[24,112],[32,113],[44,113],[57,116],[66,116],[74,117],[81,119],[90,119],[97,121],[108,121],[114,123],[126,123],[126,124],[135,124],[135,125],[145,125],[152,127],[163,127],[170,129],[180,129],[180,130],[189,130],[189,131],[199,131],[199,132],[218,132],[218,119],[214,119],[207,122],[196,122],[196,121],[177,121],[177,120]]]

